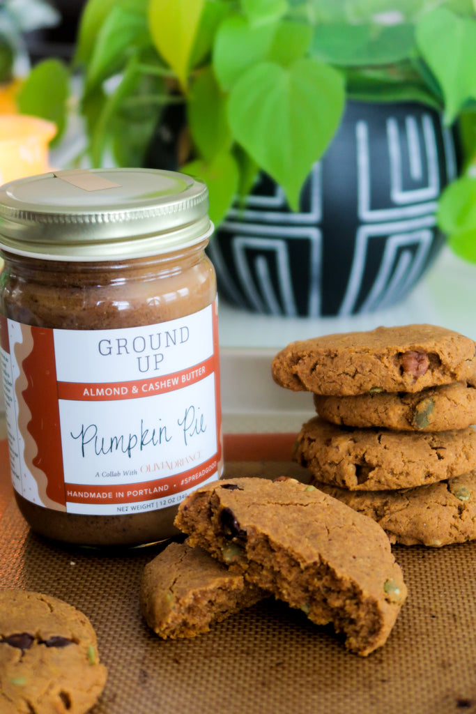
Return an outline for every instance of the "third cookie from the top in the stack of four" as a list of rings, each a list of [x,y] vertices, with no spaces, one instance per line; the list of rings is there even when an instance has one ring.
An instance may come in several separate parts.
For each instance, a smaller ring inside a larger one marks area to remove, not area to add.
[[[412,488],[476,467],[476,431],[388,431],[339,427],[316,416],[303,424],[294,459],[311,480],[351,491]]]

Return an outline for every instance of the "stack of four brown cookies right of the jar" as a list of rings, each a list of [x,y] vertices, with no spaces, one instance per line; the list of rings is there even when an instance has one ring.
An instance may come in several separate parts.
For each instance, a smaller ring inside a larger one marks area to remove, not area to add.
[[[393,543],[476,538],[476,346],[431,325],[340,333],[285,347],[285,388],[313,393],[295,460],[320,490]]]

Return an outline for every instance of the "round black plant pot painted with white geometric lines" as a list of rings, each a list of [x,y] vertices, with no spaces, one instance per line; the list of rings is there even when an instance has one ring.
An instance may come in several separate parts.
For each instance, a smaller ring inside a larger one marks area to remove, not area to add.
[[[261,174],[245,206],[228,213],[208,246],[220,295],[285,316],[349,316],[397,303],[445,242],[437,198],[456,172],[454,137],[436,111],[349,102],[298,212]]]

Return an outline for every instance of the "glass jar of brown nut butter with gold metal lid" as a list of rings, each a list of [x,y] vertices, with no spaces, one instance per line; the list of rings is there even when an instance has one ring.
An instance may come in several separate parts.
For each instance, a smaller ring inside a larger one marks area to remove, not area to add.
[[[206,186],[172,171],[59,171],[0,188],[11,477],[67,543],[175,535],[223,469]]]

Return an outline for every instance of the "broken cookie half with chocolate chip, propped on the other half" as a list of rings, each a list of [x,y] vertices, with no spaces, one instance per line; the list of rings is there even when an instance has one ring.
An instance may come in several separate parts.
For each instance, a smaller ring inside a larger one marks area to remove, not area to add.
[[[193,491],[175,525],[214,558],[368,655],[385,643],[406,597],[387,535],[292,478],[232,478]]]

